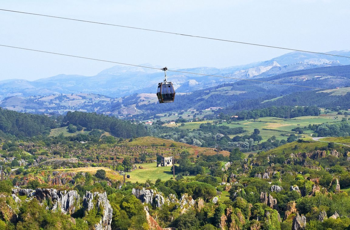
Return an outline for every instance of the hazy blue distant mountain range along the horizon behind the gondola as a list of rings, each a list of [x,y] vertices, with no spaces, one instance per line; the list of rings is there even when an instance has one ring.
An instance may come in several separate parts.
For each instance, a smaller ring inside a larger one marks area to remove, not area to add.
[[[349,50],[332,51],[329,53],[350,56]],[[260,61],[241,66],[226,68],[196,67],[177,70],[251,79],[269,77],[300,69],[349,64],[349,58],[292,52],[268,61]],[[149,64],[144,65],[151,66]],[[161,67],[157,66],[156,68]],[[173,82],[177,92],[192,92],[198,89],[217,86],[225,82],[237,81],[234,79],[194,74],[175,74],[173,72],[168,72],[168,75],[169,81]],[[48,96],[72,93],[93,93],[114,98],[134,93],[154,93],[158,82],[161,82],[162,80],[163,73],[155,69],[114,66],[105,69],[95,76],[60,74],[36,81],[19,79],[0,81],[0,99],[11,96],[26,98],[38,95]]]

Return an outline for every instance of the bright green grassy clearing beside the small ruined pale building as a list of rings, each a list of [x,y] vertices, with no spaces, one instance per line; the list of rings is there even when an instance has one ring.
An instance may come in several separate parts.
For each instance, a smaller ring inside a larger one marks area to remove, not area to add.
[[[127,174],[130,178],[126,178],[127,181],[145,183],[147,179],[155,182],[157,179],[169,180],[173,177],[173,172],[170,166],[157,167],[156,163],[152,164],[136,164],[137,168],[142,166],[143,169],[137,169]]]

